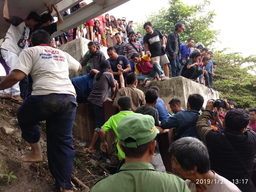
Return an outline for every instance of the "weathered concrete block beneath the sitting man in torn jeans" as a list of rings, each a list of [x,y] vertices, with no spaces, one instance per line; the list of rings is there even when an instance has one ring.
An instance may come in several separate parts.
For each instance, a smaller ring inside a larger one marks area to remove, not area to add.
[[[204,97],[203,106],[206,106],[207,100],[219,98],[219,93],[217,91],[212,90],[211,92],[211,90],[204,85],[198,84],[182,76],[173,77],[164,81],[154,81],[147,88],[144,87],[144,84],[141,84],[138,85],[137,88],[145,93],[151,86],[157,86],[160,89],[159,97],[166,104],[168,111],[171,111],[168,103],[175,97],[181,101],[183,109],[186,108],[188,96],[192,93],[198,93]]]

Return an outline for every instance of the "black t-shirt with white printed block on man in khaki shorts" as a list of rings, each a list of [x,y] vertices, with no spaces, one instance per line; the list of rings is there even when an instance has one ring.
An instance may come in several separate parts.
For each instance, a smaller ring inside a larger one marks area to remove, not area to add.
[[[161,39],[164,37],[163,34],[158,30],[154,29],[153,34],[146,34],[143,37],[143,43],[147,43],[148,49],[150,50],[151,57],[157,57],[165,54],[162,48]]]

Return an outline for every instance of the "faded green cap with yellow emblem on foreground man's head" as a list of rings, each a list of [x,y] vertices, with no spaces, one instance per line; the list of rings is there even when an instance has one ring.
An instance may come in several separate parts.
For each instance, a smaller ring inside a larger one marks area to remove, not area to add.
[[[124,116],[117,126],[117,132],[123,146],[137,148],[154,140],[159,130],[156,129],[155,120],[151,115],[135,113]],[[125,142],[124,140],[129,137],[136,142]]]

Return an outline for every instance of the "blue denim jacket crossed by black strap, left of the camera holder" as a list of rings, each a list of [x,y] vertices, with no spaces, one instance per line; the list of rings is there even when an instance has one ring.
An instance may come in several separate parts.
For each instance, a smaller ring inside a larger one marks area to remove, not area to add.
[[[193,121],[200,113],[198,111],[180,111],[173,116],[170,116],[167,119],[164,119],[161,122],[161,127],[163,129],[171,129],[173,127],[176,127],[176,129],[179,129],[179,127],[186,126],[191,121]],[[209,124],[209,122],[208,122]],[[201,140],[200,136],[197,133],[196,130],[196,123],[191,126],[185,133],[183,133],[180,137],[195,137]]]

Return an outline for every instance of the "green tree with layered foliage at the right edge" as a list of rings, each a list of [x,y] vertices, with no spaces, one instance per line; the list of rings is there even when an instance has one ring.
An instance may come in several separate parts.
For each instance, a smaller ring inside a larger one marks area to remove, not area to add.
[[[256,67],[256,56],[243,58],[238,52],[223,54],[224,51],[215,52],[213,58],[219,64],[214,70],[214,88],[220,97],[234,101],[237,108],[256,107],[256,76],[247,72]]]

